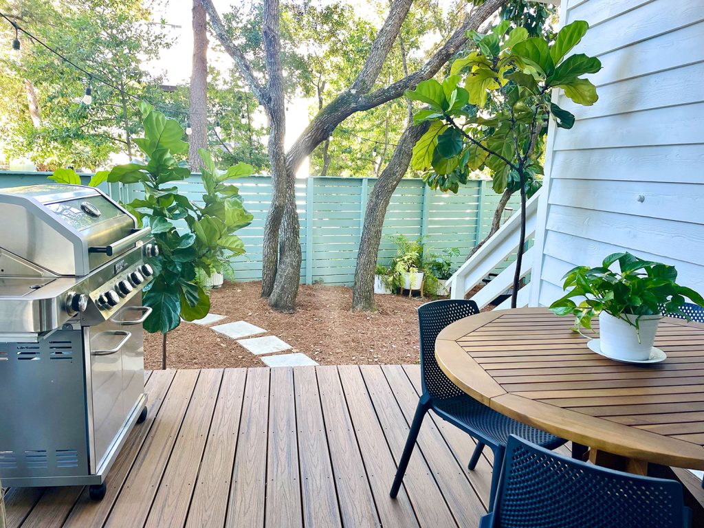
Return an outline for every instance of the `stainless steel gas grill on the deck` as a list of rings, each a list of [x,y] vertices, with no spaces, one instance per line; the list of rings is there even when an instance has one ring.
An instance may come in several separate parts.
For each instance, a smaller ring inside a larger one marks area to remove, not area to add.
[[[146,418],[149,227],[98,189],[0,189],[0,478],[90,484]]]

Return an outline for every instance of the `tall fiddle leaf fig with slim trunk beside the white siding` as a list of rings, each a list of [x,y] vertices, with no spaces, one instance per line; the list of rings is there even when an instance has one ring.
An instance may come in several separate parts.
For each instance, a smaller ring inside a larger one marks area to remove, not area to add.
[[[489,34],[469,32],[476,49],[455,59],[442,82],[421,82],[406,96],[425,104],[413,116],[430,127],[413,149],[411,165],[425,171],[434,189],[458,191],[474,170],[488,169],[494,191],[507,187],[521,195],[521,230],[511,306],[515,308],[525,246],[526,201],[539,188],[543,173],[536,149],[552,115],[558,127],[574,125],[574,115],[552,102],[561,88],[580,105],[591,105],[596,88],[581,75],[601,69],[598,58],[568,56],[589,25],[577,20],[551,41],[528,37],[508,20]]]

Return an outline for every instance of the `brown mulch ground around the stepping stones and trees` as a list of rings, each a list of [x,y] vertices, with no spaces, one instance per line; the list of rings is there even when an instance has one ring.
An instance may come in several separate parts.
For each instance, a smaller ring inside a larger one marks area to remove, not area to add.
[[[245,320],[266,329],[321,365],[416,363],[416,308],[428,299],[377,295],[378,311],[353,313],[347,287],[301,285],[296,313],[280,313],[260,297],[260,282],[225,282],[210,292],[211,313],[226,315],[215,322]],[[258,337],[258,336],[252,336]],[[144,367],[161,366],[161,334],[144,335]],[[237,341],[201,325],[183,322],[167,341],[170,368],[262,367],[264,363]]]

